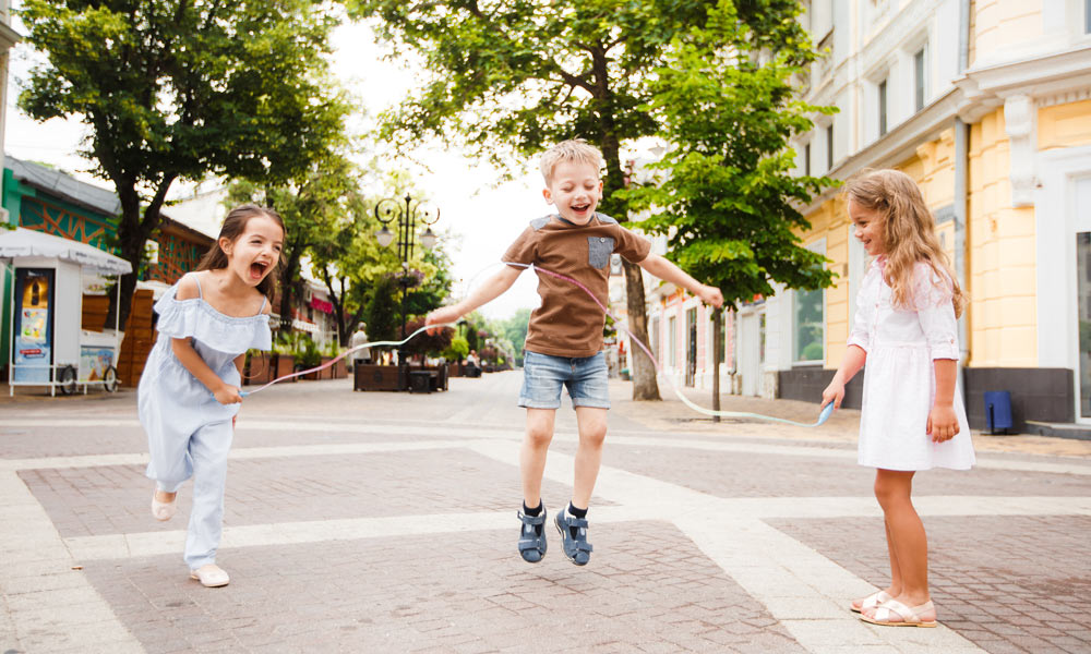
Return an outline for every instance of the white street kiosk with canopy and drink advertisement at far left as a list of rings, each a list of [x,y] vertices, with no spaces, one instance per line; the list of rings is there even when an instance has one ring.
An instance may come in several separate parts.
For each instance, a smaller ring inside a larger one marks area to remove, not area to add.
[[[93,245],[44,232],[0,230],[0,262],[14,283],[8,314],[9,395],[16,386],[45,386],[72,395],[79,386],[118,387],[116,363],[124,334],[117,316],[113,329],[88,331],[83,322],[84,275],[113,277],[118,300],[121,276],[132,271],[125,259]]]

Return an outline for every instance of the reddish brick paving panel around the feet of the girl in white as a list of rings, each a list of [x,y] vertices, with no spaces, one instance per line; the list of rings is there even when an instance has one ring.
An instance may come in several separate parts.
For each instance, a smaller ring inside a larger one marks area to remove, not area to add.
[[[883,523],[770,520],[876,584],[889,581]],[[939,619],[995,654],[1091,652],[1091,517],[926,518]]]

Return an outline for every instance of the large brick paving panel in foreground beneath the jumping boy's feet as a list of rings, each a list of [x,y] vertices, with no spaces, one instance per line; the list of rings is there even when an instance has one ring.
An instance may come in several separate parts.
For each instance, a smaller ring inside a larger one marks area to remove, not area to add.
[[[148,652],[804,651],[670,524],[601,530],[586,569],[521,562],[513,526],[228,553],[235,579],[216,592],[173,557],[86,573]]]

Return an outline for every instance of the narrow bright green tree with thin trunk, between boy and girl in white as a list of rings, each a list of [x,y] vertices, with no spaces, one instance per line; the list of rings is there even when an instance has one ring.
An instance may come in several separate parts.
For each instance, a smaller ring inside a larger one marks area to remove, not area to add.
[[[801,101],[793,87],[817,57],[807,35],[763,31],[770,21],[798,26],[799,5],[759,4],[763,23],[754,24],[719,0],[704,27],[675,40],[651,87],[660,136],[676,145],[651,166],[662,173],[657,185],[626,192],[634,207],[652,211],[642,229],[668,234],[668,256],[719,287],[729,304],[771,295],[774,282],[803,290],[832,283],[826,258],[796,235],[811,227],[798,207],[837,182],[794,175],[789,140],[813,128],[808,116],[835,110]],[[720,334],[722,314],[714,316]],[[717,348],[717,407],[719,358]]]

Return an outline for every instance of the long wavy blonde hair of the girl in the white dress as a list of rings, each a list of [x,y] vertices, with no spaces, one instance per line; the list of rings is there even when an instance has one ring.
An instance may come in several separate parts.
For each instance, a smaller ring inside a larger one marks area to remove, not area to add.
[[[872,170],[846,184],[844,193],[858,205],[882,216],[887,257],[883,279],[892,291],[894,304],[913,306],[913,267],[923,262],[939,277],[939,283],[944,283],[945,277],[950,279],[955,316],[961,316],[966,295],[947,253],[939,245],[936,221],[916,182],[899,170]]]

